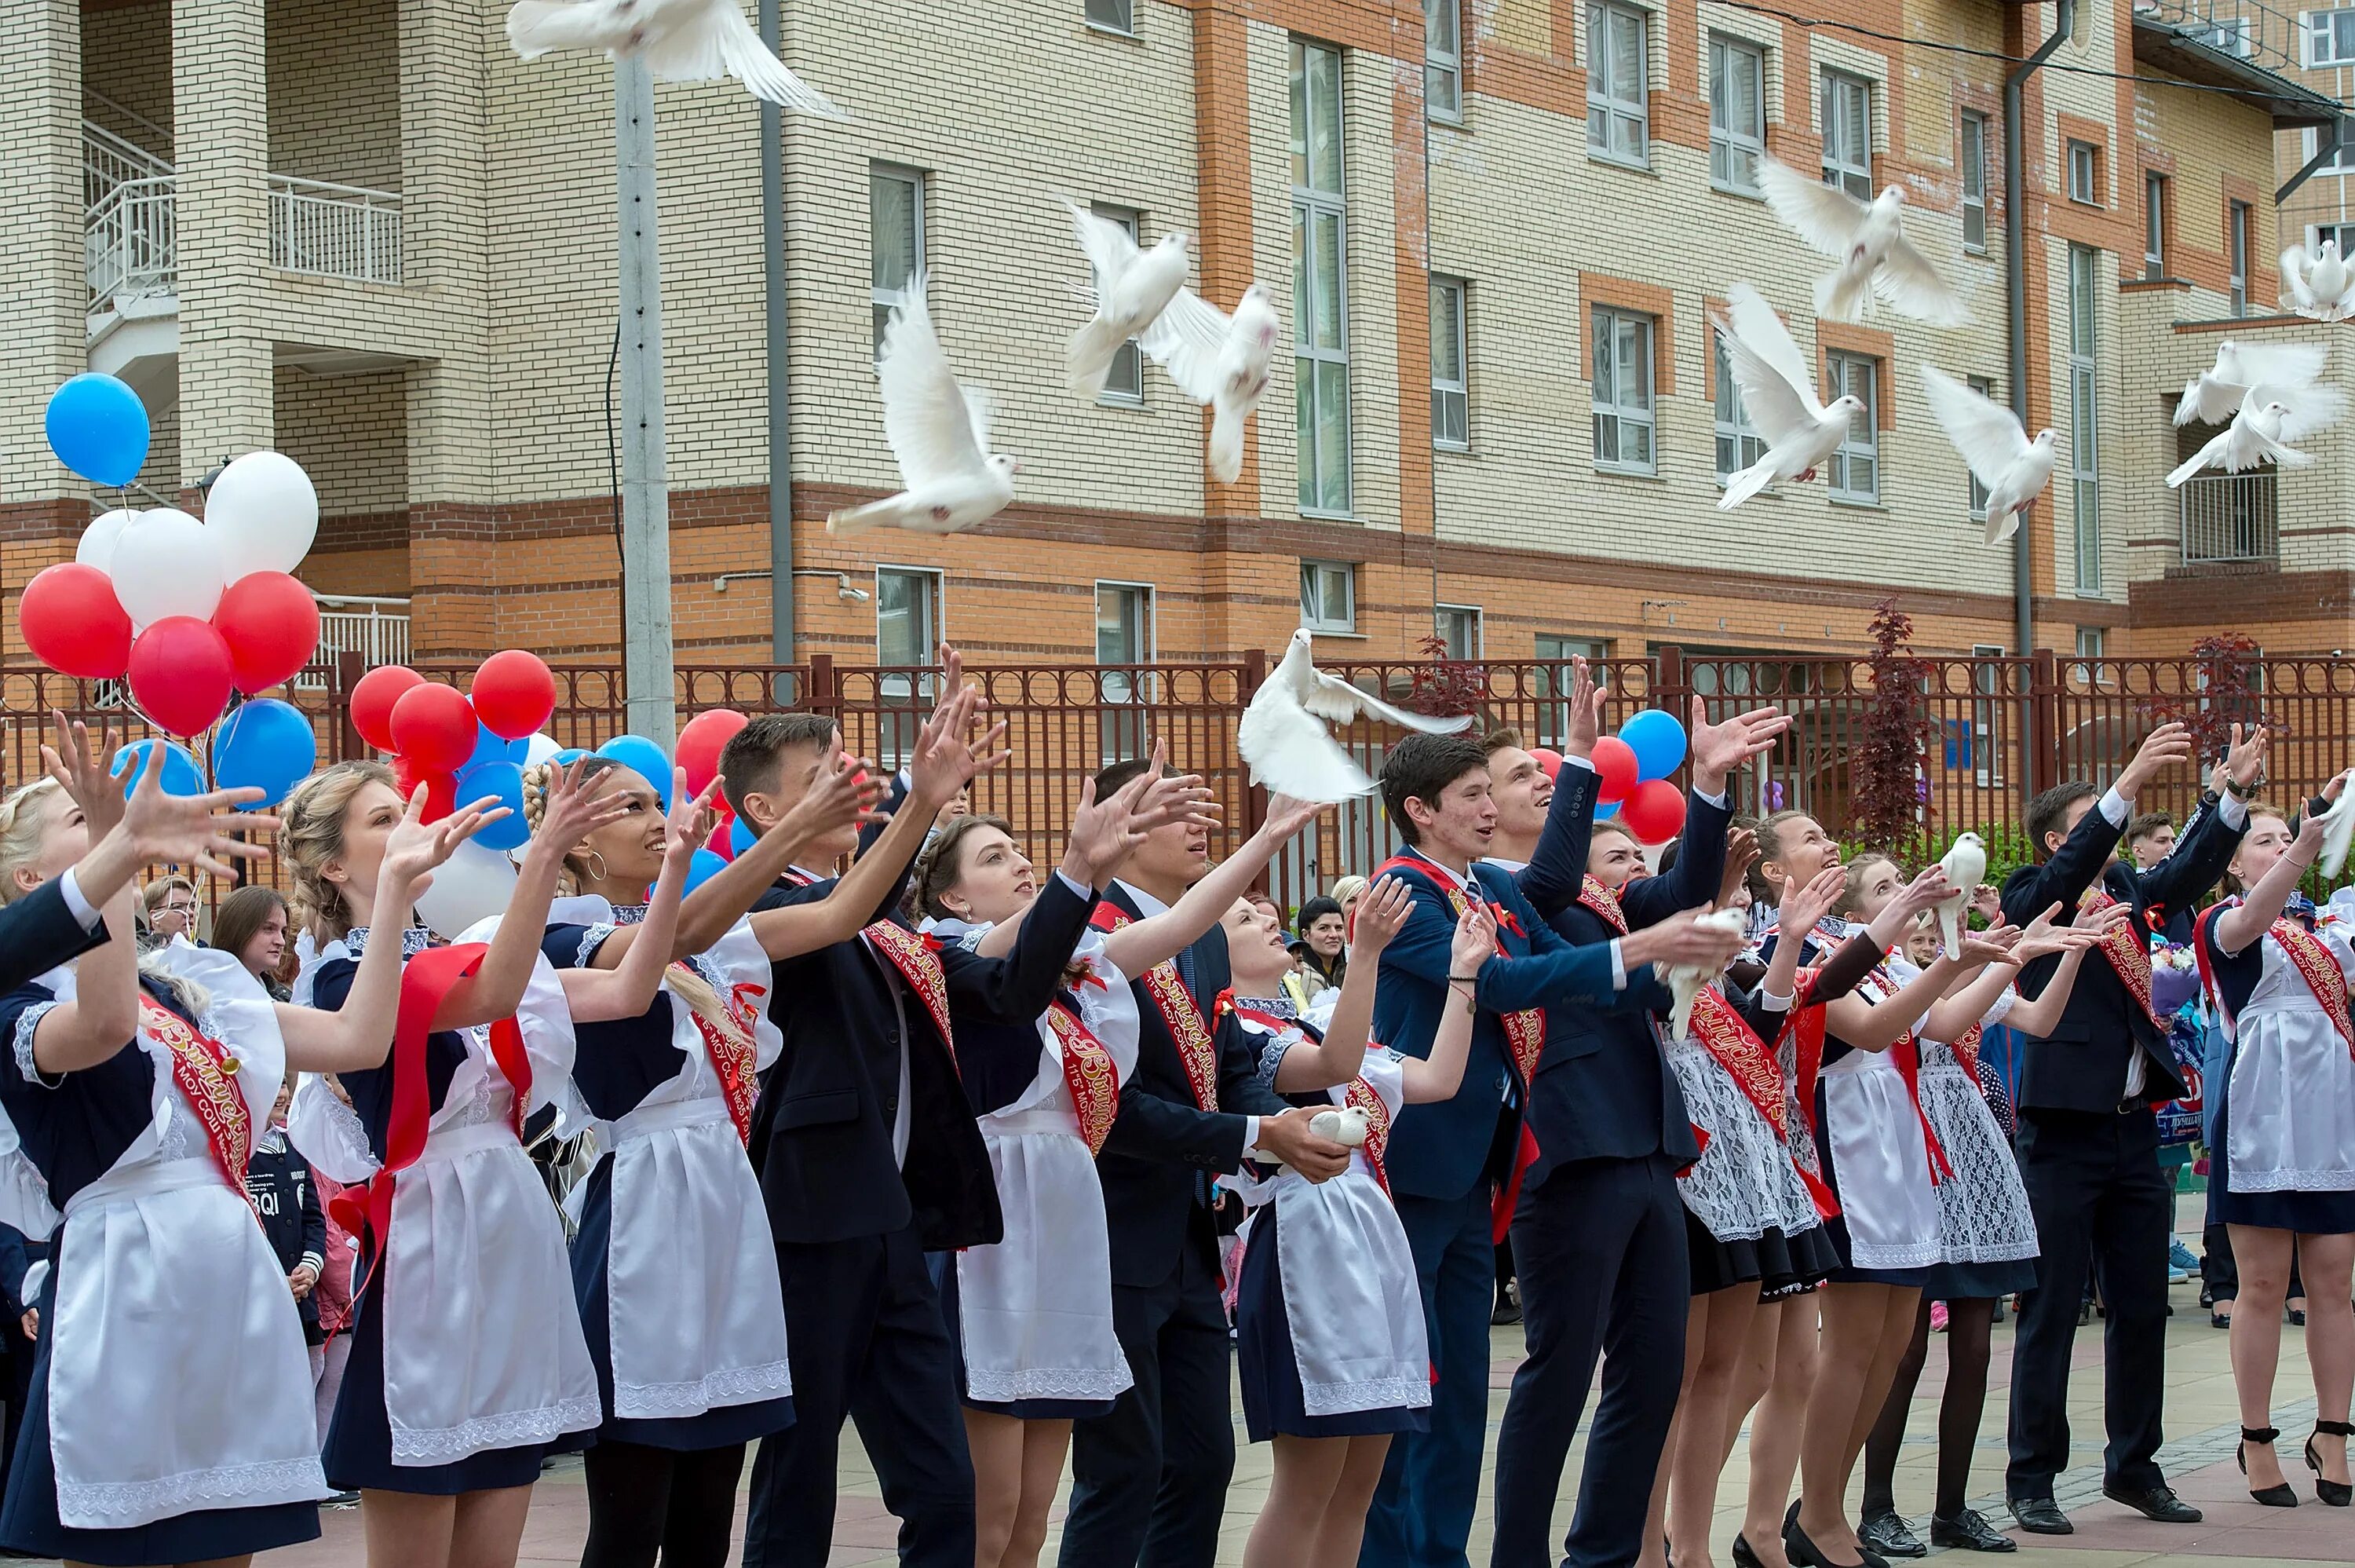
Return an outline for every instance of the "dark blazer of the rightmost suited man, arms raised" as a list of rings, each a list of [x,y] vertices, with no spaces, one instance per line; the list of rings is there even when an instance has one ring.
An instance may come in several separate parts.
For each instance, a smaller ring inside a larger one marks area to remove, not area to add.
[[[2178,909],[2190,909],[2216,885],[2233,850],[2240,848],[2249,819],[2225,826],[2223,812],[2204,812],[2193,822],[2176,852],[2136,873],[2117,862],[2120,826],[2101,815],[2096,803],[2077,822],[2068,841],[2039,866],[2018,866],[2004,878],[2004,918],[2014,925],[2061,904],[2061,923],[2077,918],[2077,899],[2094,878],[2110,897],[2134,906],[2134,939],[2150,942],[2150,930],[2164,925]],[[2021,970],[2021,994],[2039,996],[2051,984],[2061,958],[2037,958]],[[2127,1064],[2143,1052],[2143,1097],[2181,1099],[2188,1088],[2176,1071],[2176,1052],[2167,1031],[2127,991],[2105,954],[2087,954],[2077,970],[2061,1022],[2042,1038],[2023,1045],[2023,1111],[2115,1111],[2127,1092]]]

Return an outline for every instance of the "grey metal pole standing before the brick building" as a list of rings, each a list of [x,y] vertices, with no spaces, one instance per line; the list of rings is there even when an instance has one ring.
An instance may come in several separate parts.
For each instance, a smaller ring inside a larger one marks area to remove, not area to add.
[[[612,146],[622,221],[622,687],[629,727],[669,751],[671,492],[662,469],[662,261],[655,240],[655,78],[612,71]]]

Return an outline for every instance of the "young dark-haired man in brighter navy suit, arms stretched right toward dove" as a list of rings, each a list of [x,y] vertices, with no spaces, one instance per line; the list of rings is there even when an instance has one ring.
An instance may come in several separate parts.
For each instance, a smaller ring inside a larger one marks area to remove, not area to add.
[[[1415,902],[1382,949],[1375,1038],[1429,1055],[1448,998],[1455,909],[1477,897],[1498,911],[1498,956],[1474,977],[1479,1019],[1462,1090],[1408,1107],[1389,1135],[1389,1189],[1415,1255],[1437,1387],[1429,1431],[1389,1446],[1359,1554],[1368,1568],[1458,1568],[1467,1561],[1488,1422],[1488,1191],[1510,1177],[1545,1010],[1608,1005],[1630,984],[1648,982],[1644,965],[1724,963],[1738,939],[1696,928],[1691,916],[1587,946],[1559,937],[1507,871],[1477,864],[1498,817],[1479,742],[1411,735],[1392,746],[1382,758],[1382,810],[1406,843],[1382,876],[1404,881]]]

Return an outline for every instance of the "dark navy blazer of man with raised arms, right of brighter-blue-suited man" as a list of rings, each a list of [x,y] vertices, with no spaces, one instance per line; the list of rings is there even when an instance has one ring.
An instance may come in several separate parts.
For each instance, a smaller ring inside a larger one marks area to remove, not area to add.
[[[1620,935],[1578,902],[1599,786],[1594,770],[1564,763],[1538,855],[1521,871],[1521,895],[1573,944]],[[1677,864],[1665,876],[1637,878],[1620,892],[1627,930],[1658,925],[1717,897],[1731,812],[1700,796],[1689,796],[1684,810]],[[1561,1161],[1665,1154],[1681,1168],[1700,1158],[1684,1090],[1667,1071],[1651,1029],[1651,1015],[1667,1012],[1674,998],[1648,965],[1641,975],[1644,979],[1630,975],[1627,989],[1599,1008],[1547,1008],[1545,1055],[1528,1085],[1528,1132],[1538,1140],[1535,1165],[1524,1177],[1528,1184],[1543,1182]]]

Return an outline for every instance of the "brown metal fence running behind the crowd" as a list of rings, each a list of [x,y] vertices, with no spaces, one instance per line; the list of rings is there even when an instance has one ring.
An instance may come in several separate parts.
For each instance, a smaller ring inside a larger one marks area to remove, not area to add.
[[[2251,657],[2233,671],[2202,659],[2063,659],[2051,652],[2004,659],[1924,659],[1922,713],[1929,744],[1919,763],[1922,826],[1931,841],[1962,829],[2011,824],[2035,789],[2058,779],[2108,782],[2143,735],[2164,718],[2188,718],[2221,735],[2230,718],[2263,718],[2275,727],[2273,793],[2282,800],[2313,793],[2348,765],[2355,737],[2355,666],[2331,657]],[[466,685],[473,666],[419,664],[433,680]],[[1528,744],[1559,744],[1566,723],[1568,664],[1557,662],[1364,662],[1331,664],[1333,673],[1394,702],[1455,697],[1477,706],[1484,725],[1505,725]],[[294,699],[313,716],[320,758],[365,753],[349,725],[349,692],[360,676],[356,657],[313,669]],[[982,779],[975,810],[1015,824],[1034,857],[1060,852],[1062,824],[1079,800],[1079,782],[1109,760],[1142,756],[1166,739],[1170,758],[1201,772],[1225,810],[1213,852],[1234,848],[1262,812],[1234,751],[1234,727],[1267,673],[1267,655],[1251,650],[1229,664],[1137,666],[982,666],[994,718],[1008,723],[1013,763]],[[568,664],[556,669],[558,706],[549,732],[568,746],[596,746],[626,725],[619,666]],[[1875,702],[1872,666],[1863,659],[1686,657],[1663,647],[1644,659],[1608,659],[1606,725],[1641,706],[1665,706],[1689,718],[1698,697],[1710,718],[1776,704],[1795,725],[1764,768],[1743,779],[1738,805],[1752,812],[1804,808],[1835,831],[1849,822],[1849,756]],[[860,756],[897,765],[937,695],[937,671],[836,664],[817,655],[794,666],[683,666],[676,671],[681,720],[714,706],[744,711],[810,709],[843,723],[845,744]],[[42,671],[0,673],[0,763],[7,782],[40,768],[47,709],[106,720],[144,737],[148,730],[111,683],[71,680]],[[1349,725],[1342,744],[1373,772],[1397,739],[1382,725]],[[2141,800],[2178,817],[2197,793],[2193,770],[2160,782]],[[1272,871],[1272,892],[1295,906],[1347,871],[1373,869],[1394,848],[1380,798],[1349,800],[1316,831],[1302,833]],[[264,864],[257,871],[276,881]]]

